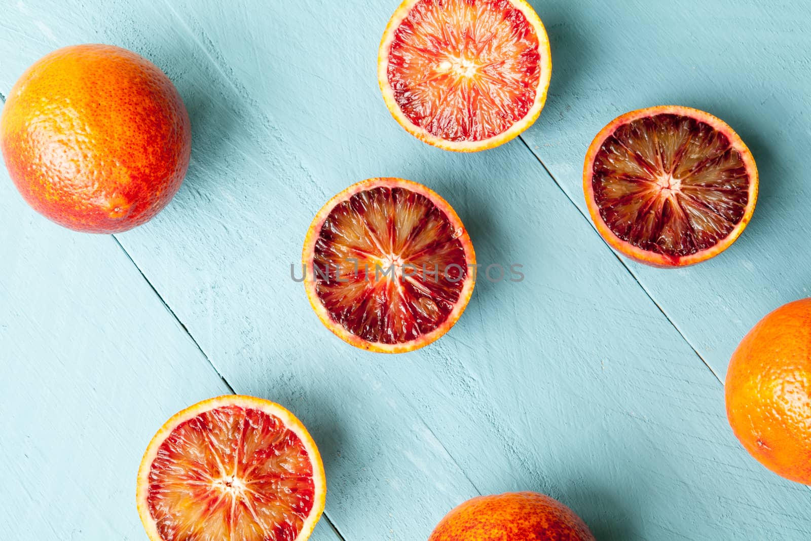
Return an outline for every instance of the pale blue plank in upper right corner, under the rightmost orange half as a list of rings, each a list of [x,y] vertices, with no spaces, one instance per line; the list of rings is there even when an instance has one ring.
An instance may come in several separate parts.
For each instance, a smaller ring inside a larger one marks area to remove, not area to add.
[[[761,177],[752,223],[723,255],[676,272],[633,275],[721,380],[762,316],[811,295],[805,154],[811,5],[789,2],[534,2],[555,72],[524,139],[585,212],[586,148],[611,118],[650,105],[705,109],[751,148]]]

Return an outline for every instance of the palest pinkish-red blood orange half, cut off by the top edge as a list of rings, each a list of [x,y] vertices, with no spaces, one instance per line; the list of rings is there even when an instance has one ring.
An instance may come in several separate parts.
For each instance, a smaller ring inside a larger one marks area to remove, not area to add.
[[[525,0],[405,0],[377,61],[397,122],[459,152],[496,147],[530,127],[550,77],[549,38]]]

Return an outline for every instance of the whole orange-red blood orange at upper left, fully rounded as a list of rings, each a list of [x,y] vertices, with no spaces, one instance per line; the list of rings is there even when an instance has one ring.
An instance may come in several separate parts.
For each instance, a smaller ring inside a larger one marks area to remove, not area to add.
[[[0,149],[36,212],[71,230],[117,233],[177,193],[191,125],[152,62],[113,45],[73,45],[41,58],[11,88]]]

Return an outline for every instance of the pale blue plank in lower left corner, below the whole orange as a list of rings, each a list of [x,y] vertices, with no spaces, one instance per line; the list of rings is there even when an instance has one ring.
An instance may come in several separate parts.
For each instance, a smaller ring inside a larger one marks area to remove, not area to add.
[[[5,169],[0,215],[3,538],[143,539],[141,454],[225,384],[114,238],[34,215]]]

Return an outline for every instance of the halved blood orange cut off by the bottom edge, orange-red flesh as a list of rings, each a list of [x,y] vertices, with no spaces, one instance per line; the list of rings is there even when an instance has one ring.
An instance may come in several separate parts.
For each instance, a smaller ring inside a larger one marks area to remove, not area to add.
[[[138,471],[151,541],[303,541],[324,511],[307,429],[271,401],[228,395],[169,419]]]

